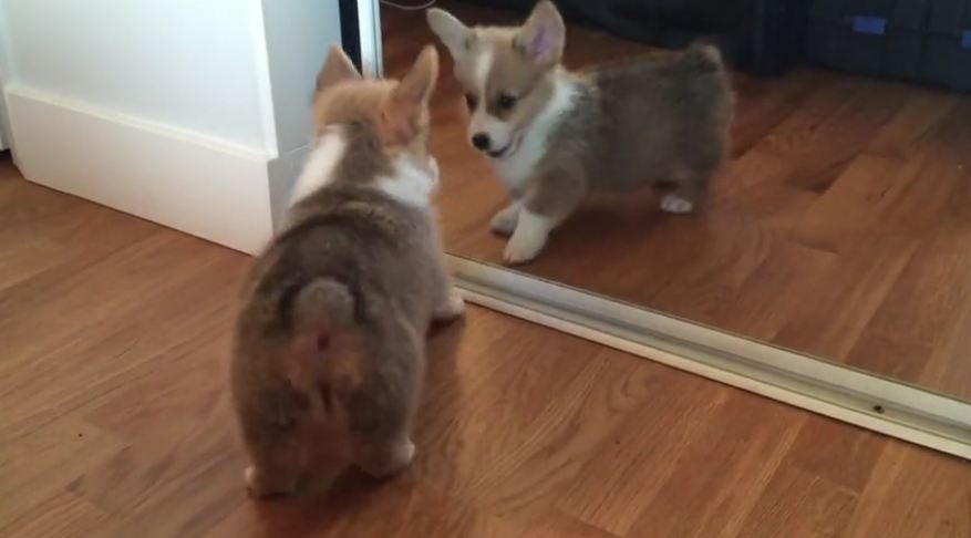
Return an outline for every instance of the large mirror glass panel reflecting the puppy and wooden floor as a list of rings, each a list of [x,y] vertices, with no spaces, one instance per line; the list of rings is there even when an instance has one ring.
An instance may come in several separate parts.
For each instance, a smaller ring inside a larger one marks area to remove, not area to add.
[[[602,9],[611,3],[623,2]],[[934,42],[929,30],[916,31],[923,49],[950,55],[911,58],[901,45],[898,58],[880,44],[890,37],[879,28],[826,33],[825,13],[805,13],[787,22],[798,30],[791,39],[800,35],[793,45],[800,60],[771,74],[753,74],[774,66],[753,65],[764,59],[747,51],[746,60],[744,46],[717,34],[735,62],[726,75],[731,137],[711,177],[694,177],[717,142],[711,59],[704,49],[664,55],[651,43],[684,29],[714,34],[738,13],[567,13],[562,65],[586,74],[562,76],[592,93],[572,96],[570,120],[557,118],[567,127],[557,131],[543,114],[569,96],[546,85],[544,70],[560,68],[544,62],[556,62],[561,35],[548,13],[523,27],[531,4],[440,1],[464,25],[518,28],[468,30],[447,20],[444,39],[424,11],[382,9],[391,75],[424,43],[442,53],[433,146],[447,251],[971,397],[971,95],[953,89],[971,86],[955,74],[960,59],[971,72],[971,50],[959,33]],[[457,69],[456,54],[469,56]],[[609,74],[595,74],[603,69]],[[540,128],[551,128],[543,143],[529,137]],[[476,141],[481,134],[490,139]],[[504,184],[504,172],[524,183]],[[590,187],[638,174],[638,188]],[[530,199],[538,182],[546,198]],[[578,182],[590,188],[572,207]],[[500,215],[517,199],[531,209],[518,223]],[[557,211],[566,215],[549,215]],[[551,231],[537,249],[543,240],[530,234],[544,226]]]

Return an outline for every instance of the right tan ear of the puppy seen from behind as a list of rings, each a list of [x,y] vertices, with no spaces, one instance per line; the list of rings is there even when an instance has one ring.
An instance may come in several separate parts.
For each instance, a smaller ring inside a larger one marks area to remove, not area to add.
[[[428,101],[437,81],[438,52],[428,44],[383,104],[382,118],[395,138],[413,137],[427,122]]]

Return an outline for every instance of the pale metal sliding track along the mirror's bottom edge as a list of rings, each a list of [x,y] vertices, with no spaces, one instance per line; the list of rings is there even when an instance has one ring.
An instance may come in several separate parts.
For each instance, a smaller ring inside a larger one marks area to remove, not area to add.
[[[504,268],[450,256],[473,303],[971,459],[971,404]]]

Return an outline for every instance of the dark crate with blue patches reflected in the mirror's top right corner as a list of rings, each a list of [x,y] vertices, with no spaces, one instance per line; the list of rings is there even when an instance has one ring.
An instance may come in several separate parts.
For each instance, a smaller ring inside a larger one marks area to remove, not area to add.
[[[971,89],[971,0],[813,0],[806,60]]]

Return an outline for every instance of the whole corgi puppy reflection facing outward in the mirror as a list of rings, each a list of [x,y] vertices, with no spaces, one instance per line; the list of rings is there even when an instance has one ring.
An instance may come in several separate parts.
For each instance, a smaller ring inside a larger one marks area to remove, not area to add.
[[[465,91],[468,138],[512,198],[492,220],[512,236],[507,263],[534,259],[590,193],[671,187],[661,209],[689,213],[721,166],[733,96],[713,46],[572,73],[549,0],[519,28],[469,28],[441,9],[427,20]]]

